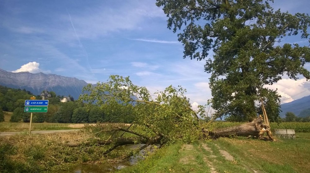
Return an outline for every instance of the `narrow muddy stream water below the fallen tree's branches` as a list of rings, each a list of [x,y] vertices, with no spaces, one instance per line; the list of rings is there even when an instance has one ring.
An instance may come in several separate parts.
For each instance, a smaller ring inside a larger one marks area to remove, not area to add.
[[[127,145],[120,149],[136,149],[142,147],[144,144]],[[120,170],[124,167],[128,167],[136,164],[139,160],[143,160],[148,152],[153,152],[153,147],[148,146],[146,149],[142,149],[138,155],[131,156],[127,161],[121,163],[110,163],[110,164],[81,164],[73,169],[63,173],[102,173],[102,172],[113,172]]]

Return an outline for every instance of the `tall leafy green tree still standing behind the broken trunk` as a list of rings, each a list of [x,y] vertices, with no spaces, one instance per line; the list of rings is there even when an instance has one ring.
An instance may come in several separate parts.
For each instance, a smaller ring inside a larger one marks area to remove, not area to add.
[[[262,97],[269,118],[279,117],[280,95],[264,85],[283,75],[309,79],[304,64],[310,48],[283,44],[290,36],[308,38],[308,14],[281,12],[272,0],[157,0],[169,17],[168,28],[178,33],[184,58],[207,59],[211,73],[212,107],[216,117],[244,121],[257,117]],[[307,40],[306,40],[307,41]],[[209,51],[213,57],[208,57]]]

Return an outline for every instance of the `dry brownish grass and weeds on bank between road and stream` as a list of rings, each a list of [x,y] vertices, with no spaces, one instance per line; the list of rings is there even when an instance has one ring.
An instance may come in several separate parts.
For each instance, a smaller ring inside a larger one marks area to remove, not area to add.
[[[10,167],[8,172],[51,172],[52,170],[68,169],[74,164],[81,164],[87,161],[105,162],[106,158],[98,157],[101,147],[93,148],[88,152],[82,147],[69,147],[67,143],[88,135],[87,132],[67,132],[48,134],[17,134],[11,136],[0,136],[0,149],[3,145],[14,146],[14,152],[7,154],[6,162],[0,163],[11,166],[10,163],[18,163]],[[86,142],[87,139],[79,140]],[[3,147],[2,147],[3,148]],[[38,169],[30,169],[38,168]],[[2,172],[0,167],[0,172]],[[59,171],[55,171],[59,172]]]

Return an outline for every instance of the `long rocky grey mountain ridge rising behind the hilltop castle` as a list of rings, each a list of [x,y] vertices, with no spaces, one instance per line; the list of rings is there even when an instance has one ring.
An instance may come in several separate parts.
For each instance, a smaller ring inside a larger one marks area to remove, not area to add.
[[[43,90],[54,91],[57,95],[71,95],[78,99],[82,88],[87,85],[84,80],[55,74],[18,72],[12,73],[0,69],[0,85],[15,89],[26,89],[34,95]]]

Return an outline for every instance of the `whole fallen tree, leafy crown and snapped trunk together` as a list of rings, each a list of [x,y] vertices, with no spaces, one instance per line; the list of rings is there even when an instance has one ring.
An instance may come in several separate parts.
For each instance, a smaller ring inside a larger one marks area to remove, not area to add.
[[[205,138],[225,137],[227,134],[229,136],[252,135],[262,139],[264,132],[270,132],[269,125],[263,123],[261,116],[240,126],[208,130],[208,125],[200,122],[208,114],[205,107],[198,106],[199,110],[193,110],[189,99],[184,95],[185,92],[182,87],[169,86],[164,91],[151,95],[145,87],[132,84],[129,77],[117,75],[111,75],[105,83],[87,85],[79,98],[79,101],[86,103],[86,106],[106,108],[106,105],[118,103],[131,108],[130,114],[123,111],[124,118],[134,117],[134,122],[129,127],[114,125],[108,128],[103,125],[94,134],[106,133],[107,135],[104,138],[89,141],[87,145],[108,145],[104,152],[108,154],[119,146],[129,144],[145,144],[139,148],[140,150],[148,145],[163,145],[177,140],[193,142]],[[131,126],[136,126],[136,129],[140,130],[132,130],[135,128],[130,128]],[[124,137],[125,132],[133,136]],[[68,145],[74,147],[80,144]]]

